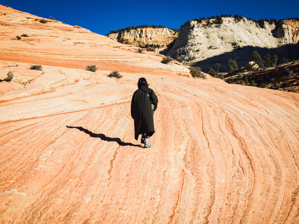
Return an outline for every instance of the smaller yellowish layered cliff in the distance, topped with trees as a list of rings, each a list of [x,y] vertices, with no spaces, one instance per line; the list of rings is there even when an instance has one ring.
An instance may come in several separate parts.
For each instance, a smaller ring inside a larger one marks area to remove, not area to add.
[[[168,28],[138,28],[120,33],[110,33],[106,36],[120,43],[137,47],[156,44],[166,48],[166,45],[172,43],[178,37],[178,34],[178,32]]]

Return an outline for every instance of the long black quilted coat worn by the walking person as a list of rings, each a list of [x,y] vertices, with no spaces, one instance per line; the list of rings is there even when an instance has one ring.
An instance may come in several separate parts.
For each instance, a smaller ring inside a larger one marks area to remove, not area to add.
[[[141,86],[134,92],[131,102],[131,116],[134,119],[136,140],[138,140],[139,135],[145,132],[150,132],[149,136],[155,133],[154,112],[151,102],[155,110],[158,105],[158,98],[152,89]]]

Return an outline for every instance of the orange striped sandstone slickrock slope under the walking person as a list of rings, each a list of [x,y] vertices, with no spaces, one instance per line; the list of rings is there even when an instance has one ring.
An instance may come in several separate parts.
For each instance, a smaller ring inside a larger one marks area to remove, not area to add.
[[[1,223],[299,222],[298,94],[192,79],[161,55],[0,10],[0,72],[15,74],[0,82]],[[151,149],[133,136],[139,77],[159,99]]]

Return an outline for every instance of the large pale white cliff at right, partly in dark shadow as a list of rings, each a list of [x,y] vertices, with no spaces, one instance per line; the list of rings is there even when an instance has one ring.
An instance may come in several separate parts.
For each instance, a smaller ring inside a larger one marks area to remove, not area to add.
[[[227,71],[228,59],[239,66],[248,63],[252,51],[261,55],[278,54],[280,58],[298,56],[298,21],[283,21],[278,27],[232,17],[220,20],[189,21],[181,27],[178,38],[167,56],[202,69],[221,63],[219,71]]]

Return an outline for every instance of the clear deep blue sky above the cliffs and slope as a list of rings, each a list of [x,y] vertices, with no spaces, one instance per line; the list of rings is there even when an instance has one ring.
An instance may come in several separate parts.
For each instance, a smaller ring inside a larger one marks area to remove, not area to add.
[[[127,26],[159,25],[180,28],[187,20],[223,14],[252,19],[299,17],[299,0],[291,1],[57,1],[0,0],[1,5],[36,16],[49,16],[105,35]]]

